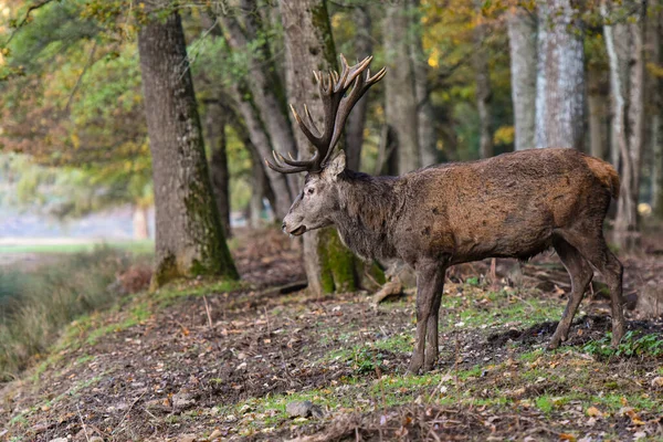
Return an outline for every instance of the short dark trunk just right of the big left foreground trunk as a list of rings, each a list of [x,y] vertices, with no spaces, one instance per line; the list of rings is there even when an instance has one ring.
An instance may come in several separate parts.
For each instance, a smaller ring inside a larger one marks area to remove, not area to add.
[[[228,239],[232,236],[232,231],[230,229],[230,172],[228,171],[228,155],[225,151],[225,124],[228,118],[223,114],[223,108],[219,104],[210,103],[206,126],[207,139],[212,148],[212,158],[210,159],[212,190],[219,209],[221,228]]]

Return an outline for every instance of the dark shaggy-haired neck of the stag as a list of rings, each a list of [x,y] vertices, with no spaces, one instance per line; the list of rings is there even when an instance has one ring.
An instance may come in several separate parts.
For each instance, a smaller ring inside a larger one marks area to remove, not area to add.
[[[391,224],[398,218],[397,178],[344,171],[336,227],[343,242],[364,259],[396,256]]]

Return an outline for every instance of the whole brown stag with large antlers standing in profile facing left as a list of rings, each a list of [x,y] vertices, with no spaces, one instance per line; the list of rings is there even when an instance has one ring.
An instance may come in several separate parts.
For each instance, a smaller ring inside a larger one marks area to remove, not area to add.
[[[572,148],[537,148],[469,162],[449,162],[399,177],[369,176],[333,156],[352,106],[386,75],[373,76],[372,56],[341,73],[314,73],[324,108],[322,130],[293,116],[315,147],[311,159],[273,152],[266,165],[282,173],[306,172],[283,220],[294,236],[336,225],[346,246],[365,260],[400,259],[417,275],[417,336],[408,370],[438,361],[438,323],[446,269],[487,257],[528,260],[552,248],[571,280],[571,293],[547,346],[568,339],[573,315],[594,269],[610,288],[612,345],[624,335],[620,261],[603,236],[603,221],[620,180],[608,162]]]

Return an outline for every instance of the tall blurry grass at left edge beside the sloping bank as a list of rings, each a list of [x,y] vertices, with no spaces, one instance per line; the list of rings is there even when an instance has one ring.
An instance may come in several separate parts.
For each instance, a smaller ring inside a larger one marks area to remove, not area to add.
[[[46,354],[65,325],[116,303],[122,295],[109,286],[134,262],[101,248],[30,273],[0,271],[0,380]]]

